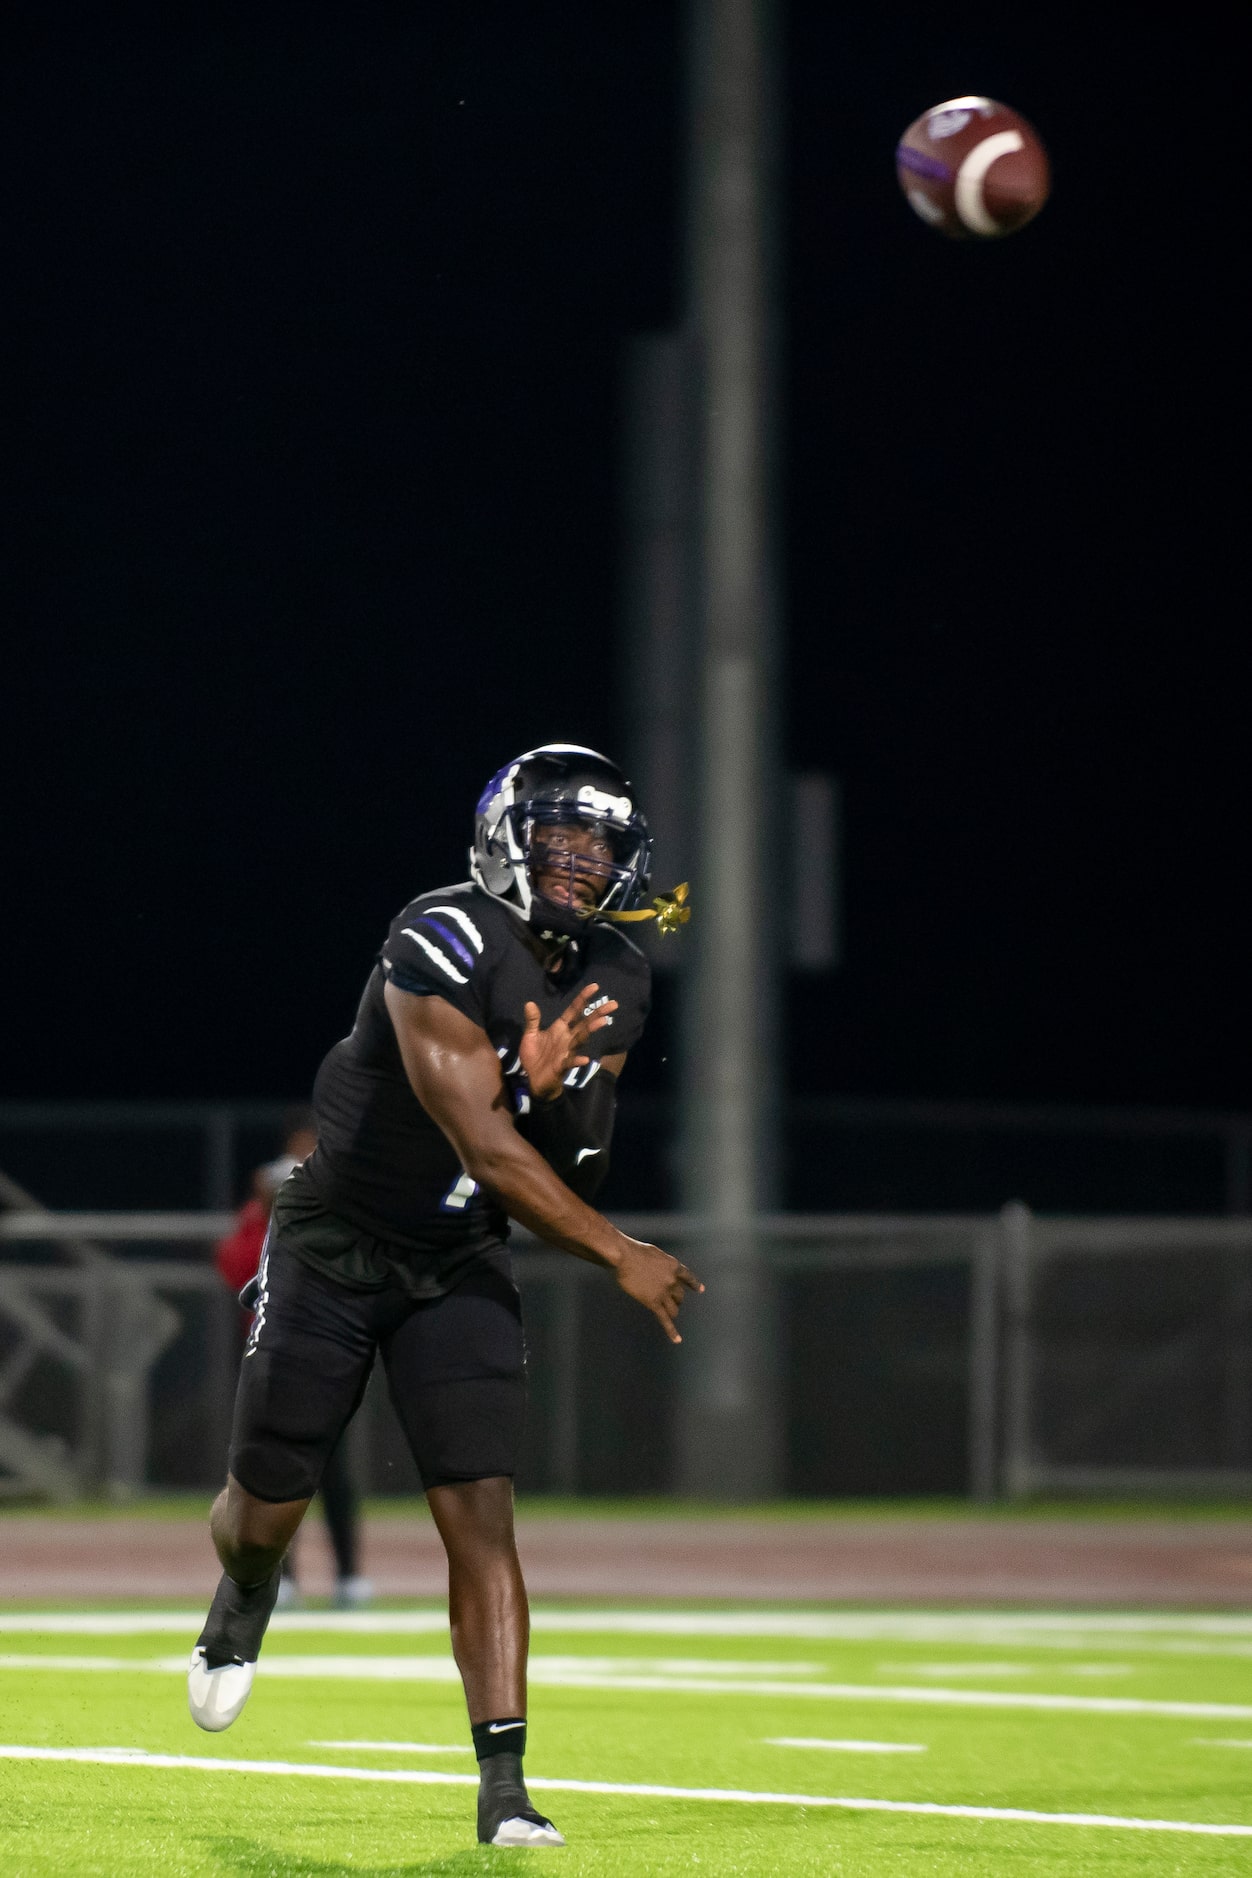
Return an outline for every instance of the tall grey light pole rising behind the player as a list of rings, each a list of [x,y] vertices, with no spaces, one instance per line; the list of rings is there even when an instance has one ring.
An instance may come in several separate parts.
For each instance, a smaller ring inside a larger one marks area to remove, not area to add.
[[[678,1485],[781,1484],[773,1298],[781,1080],[777,133],[771,0],[691,0],[689,325],[696,370],[696,843],[683,995],[683,1206],[710,1223],[683,1313]]]

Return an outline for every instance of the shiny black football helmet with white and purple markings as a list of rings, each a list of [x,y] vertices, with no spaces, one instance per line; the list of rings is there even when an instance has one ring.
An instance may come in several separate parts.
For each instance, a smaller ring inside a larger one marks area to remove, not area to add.
[[[537,830],[595,828],[606,854],[582,854]],[[535,931],[574,937],[588,920],[625,913],[648,890],[651,838],[616,762],[580,744],[542,744],[497,770],[479,798],[469,849],[477,885]],[[567,871],[571,900],[544,898],[535,881]],[[573,883],[591,888],[574,903]]]

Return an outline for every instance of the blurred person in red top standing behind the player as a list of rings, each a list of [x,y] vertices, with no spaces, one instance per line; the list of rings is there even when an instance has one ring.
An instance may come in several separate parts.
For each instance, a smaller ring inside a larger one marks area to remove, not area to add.
[[[235,1294],[242,1292],[257,1275],[265,1234],[270,1228],[270,1215],[274,1211],[274,1194],[287,1176],[308,1161],[315,1146],[317,1131],[312,1110],[295,1110],[287,1117],[282,1153],[276,1161],[267,1161],[252,1176],[252,1194],[238,1209],[235,1232],[227,1234],[225,1239],[218,1239],[214,1249],[214,1264]],[[252,1324],[252,1313],[248,1313],[248,1324]],[[359,1611],[370,1602],[374,1587],[359,1572],[360,1493],[353,1478],[347,1431],[330,1450],[319,1491],[330,1549],[334,1551],[334,1593],[330,1602],[338,1611]],[[297,1536],[293,1536],[283,1557],[283,1576],[276,1606],[280,1611],[298,1609],[302,1602],[297,1578]]]

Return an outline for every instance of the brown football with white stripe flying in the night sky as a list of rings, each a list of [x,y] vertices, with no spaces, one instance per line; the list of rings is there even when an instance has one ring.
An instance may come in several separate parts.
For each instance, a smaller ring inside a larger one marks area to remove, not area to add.
[[[895,146],[895,173],[916,214],[955,240],[1025,227],[1051,182],[1038,131],[995,98],[924,111]]]

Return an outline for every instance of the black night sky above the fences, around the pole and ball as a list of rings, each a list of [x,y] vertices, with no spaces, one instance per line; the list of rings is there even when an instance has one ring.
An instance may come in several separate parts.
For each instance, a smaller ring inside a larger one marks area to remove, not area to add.
[[[800,1087],[1252,1102],[1233,21],[790,8],[786,744],[848,815]],[[1055,165],[989,248],[892,167],[969,90]],[[484,777],[619,746],[679,98],[640,0],[9,34],[0,1097],[300,1093]]]

